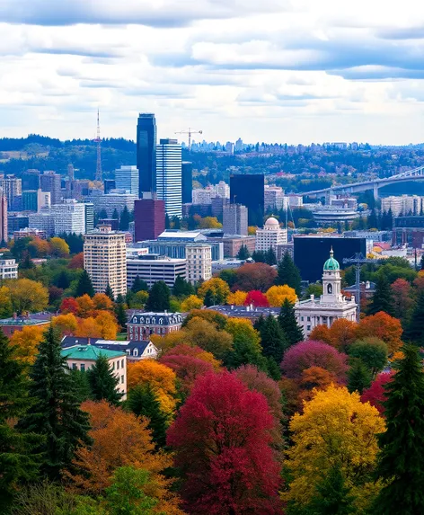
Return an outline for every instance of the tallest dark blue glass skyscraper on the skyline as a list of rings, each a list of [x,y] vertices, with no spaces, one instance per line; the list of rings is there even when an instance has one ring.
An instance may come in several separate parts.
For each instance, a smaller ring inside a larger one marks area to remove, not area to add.
[[[140,113],[138,115],[137,169],[140,199],[154,199],[156,192],[155,114]]]

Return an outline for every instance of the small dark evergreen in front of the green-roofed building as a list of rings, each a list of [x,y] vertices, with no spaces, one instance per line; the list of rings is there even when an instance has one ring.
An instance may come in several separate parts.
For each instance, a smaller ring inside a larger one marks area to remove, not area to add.
[[[106,356],[101,354],[93,367],[87,370],[87,379],[94,401],[104,399],[110,404],[119,404],[123,395],[116,389],[119,385],[119,376],[112,372]]]

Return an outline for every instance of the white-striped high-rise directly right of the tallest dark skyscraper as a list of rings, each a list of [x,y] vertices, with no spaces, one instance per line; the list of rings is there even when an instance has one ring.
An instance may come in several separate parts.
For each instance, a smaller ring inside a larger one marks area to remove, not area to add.
[[[176,139],[160,139],[156,147],[156,193],[165,201],[169,217],[181,218],[182,171],[181,145]]]

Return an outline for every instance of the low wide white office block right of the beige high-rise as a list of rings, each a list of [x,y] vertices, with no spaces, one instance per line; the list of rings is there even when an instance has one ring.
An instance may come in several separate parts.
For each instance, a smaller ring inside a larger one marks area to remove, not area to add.
[[[158,280],[163,280],[171,289],[178,276],[186,279],[186,260],[172,259],[158,254],[127,255],[127,288],[131,289],[137,276],[146,280],[151,288]]]

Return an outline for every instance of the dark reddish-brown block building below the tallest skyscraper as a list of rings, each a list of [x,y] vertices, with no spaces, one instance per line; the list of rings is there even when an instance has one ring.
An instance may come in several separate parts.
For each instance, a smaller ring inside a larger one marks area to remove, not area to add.
[[[134,203],[134,236],[136,242],[155,240],[165,230],[163,200],[140,199]]]

